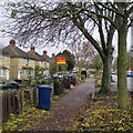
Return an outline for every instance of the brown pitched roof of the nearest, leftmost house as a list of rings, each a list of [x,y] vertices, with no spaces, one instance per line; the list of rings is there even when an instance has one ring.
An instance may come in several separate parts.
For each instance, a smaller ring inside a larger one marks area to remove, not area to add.
[[[19,49],[16,45],[11,45],[9,44],[8,47],[2,49],[2,53],[7,53],[10,57],[18,57],[18,58],[28,58],[27,52],[22,51],[21,49]]]

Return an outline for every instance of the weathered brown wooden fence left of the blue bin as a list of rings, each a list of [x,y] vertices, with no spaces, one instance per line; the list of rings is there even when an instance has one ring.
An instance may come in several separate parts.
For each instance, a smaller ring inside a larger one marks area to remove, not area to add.
[[[29,96],[28,96],[29,92]],[[30,98],[30,99],[29,99]],[[20,89],[10,93],[2,93],[2,121],[7,121],[10,117],[10,113],[21,114],[23,112],[23,104],[27,99],[30,103],[38,105],[37,89]]]

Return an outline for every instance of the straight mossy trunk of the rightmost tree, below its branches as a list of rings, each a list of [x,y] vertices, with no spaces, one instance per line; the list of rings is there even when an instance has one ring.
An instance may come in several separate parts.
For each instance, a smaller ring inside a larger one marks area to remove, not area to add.
[[[117,104],[121,109],[129,108],[129,94],[126,83],[126,23],[122,24],[119,32],[119,57],[117,57]]]

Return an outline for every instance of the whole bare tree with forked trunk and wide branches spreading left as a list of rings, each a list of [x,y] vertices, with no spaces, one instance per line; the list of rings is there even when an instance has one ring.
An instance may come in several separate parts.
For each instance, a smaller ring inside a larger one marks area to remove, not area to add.
[[[70,45],[85,37],[96,49],[104,64],[101,93],[110,91],[112,39],[115,29],[101,16],[104,14],[115,22],[112,11],[101,10],[95,3],[90,2],[43,1],[9,3],[7,11],[9,18],[14,21],[8,24],[6,31],[24,43],[34,39],[45,41],[47,44],[58,45],[63,42]],[[101,44],[92,35],[95,28],[99,29]]]

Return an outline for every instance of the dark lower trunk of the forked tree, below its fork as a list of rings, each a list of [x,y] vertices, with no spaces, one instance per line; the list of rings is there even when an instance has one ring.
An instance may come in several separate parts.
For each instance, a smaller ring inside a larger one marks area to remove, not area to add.
[[[111,62],[112,57],[106,55],[103,61],[103,76],[100,92],[101,94],[106,94],[111,90]]]

